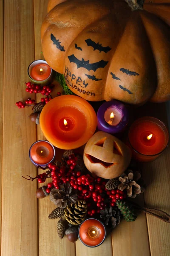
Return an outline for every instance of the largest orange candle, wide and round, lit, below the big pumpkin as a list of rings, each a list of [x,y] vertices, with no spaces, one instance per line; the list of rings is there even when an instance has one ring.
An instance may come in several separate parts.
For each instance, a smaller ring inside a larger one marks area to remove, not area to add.
[[[74,149],[94,134],[97,117],[92,106],[79,96],[52,99],[40,114],[40,127],[46,139],[57,148]]]

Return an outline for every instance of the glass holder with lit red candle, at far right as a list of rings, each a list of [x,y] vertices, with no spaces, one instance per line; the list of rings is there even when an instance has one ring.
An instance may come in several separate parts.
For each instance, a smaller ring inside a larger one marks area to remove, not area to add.
[[[169,134],[163,122],[155,117],[142,117],[131,125],[127,145],[132,156],[139,162],[150,162],[159,157],[169,141]]]

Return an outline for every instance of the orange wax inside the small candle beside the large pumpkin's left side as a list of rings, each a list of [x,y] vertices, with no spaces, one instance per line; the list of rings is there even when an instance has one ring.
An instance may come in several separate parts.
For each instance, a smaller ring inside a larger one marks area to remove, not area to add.
[[[30,72],[32,79],[36,81],[44,81],[51,75],[51,67],[45,63],[36,64]]]

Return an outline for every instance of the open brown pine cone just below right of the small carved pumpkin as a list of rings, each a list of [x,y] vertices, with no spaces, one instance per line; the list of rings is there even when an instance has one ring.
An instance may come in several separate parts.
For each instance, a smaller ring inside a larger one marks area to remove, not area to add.
[[[136,198],[136,195],[144,192],[144,187],[136,183],[140,178],[140,172],[136,171],[133,173],[132,170],[127,170],[127,174],[123,173],[121,177],[119,177],[121,183],[119,184],[118,189],[122,191],[126,189],[128,197]]]

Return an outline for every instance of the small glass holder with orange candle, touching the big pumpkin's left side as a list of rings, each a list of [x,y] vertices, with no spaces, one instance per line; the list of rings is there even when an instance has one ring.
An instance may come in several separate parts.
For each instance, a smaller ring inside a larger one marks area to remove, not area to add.
[[[50,84],[52,75],[52,68],[44,60],[33,61],[28,66],[28,76],[34,84],[40,84],[42,86]]]

